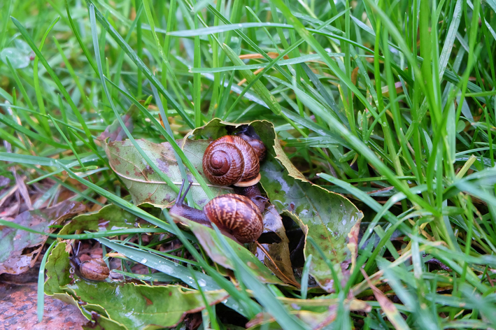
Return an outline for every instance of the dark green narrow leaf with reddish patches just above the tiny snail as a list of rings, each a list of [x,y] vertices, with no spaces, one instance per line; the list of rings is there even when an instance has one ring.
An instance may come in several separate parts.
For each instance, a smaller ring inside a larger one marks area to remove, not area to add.
[[[61,229],[59,234],[71,234],[78,230],[106,231],[122,228],[153,228],[153,224],[139,220],[136,215],[113,204],[104,206],[98,212],[74,217]]]

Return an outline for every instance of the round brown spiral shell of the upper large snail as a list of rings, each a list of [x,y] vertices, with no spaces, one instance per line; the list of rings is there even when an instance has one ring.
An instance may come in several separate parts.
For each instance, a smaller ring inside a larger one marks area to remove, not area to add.
[[[213,141],[205,150],[202,164],[205,176],[215,185],[254,180],[260,171],[255,150],[239,136],[222,136]]]

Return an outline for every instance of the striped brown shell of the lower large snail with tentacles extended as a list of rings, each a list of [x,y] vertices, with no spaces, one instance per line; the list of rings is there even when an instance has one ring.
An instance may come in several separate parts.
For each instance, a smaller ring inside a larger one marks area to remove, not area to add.
[[[262,235],[262,213],[246,196],[225,194],[204,206],[204,214],[217,227],[228,229],[240,243],[250,243]]]

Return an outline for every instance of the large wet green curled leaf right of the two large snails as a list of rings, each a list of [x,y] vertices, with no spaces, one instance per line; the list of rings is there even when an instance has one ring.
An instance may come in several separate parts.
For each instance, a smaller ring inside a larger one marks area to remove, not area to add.
[[[285,155],[269,122],[254,122],[255,131],[268,148],[267,160],[262,164],[260,183],[271,203],[280,213],[290,215],[306,236],[311,236],[333,264],[350,259],[346,247],[348,234],[362,220],[362,212],[348,199],[313,185],[292,165]],[[332,290],[332,273],[311,244],[305,245],[305,256],[313,255],[310,273],[319,285]]]

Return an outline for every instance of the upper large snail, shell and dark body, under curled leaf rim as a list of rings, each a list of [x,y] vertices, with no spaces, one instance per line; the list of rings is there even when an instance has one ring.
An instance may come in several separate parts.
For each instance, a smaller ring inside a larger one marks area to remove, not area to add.
[[[205,150],[203,170],[215,185],[249,187],[260,181],[260,161],[267,150],[252,127],[222,136]]]

